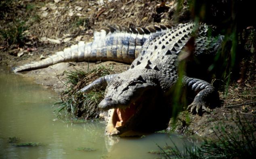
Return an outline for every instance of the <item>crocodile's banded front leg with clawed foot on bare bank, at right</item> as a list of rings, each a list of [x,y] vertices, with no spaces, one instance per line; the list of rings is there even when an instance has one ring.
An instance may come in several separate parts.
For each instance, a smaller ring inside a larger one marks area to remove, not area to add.
[[[183,77],[183,84],[196,94],[194,101],[188,106],[187,109],[189,109],[191,113],[195,111],[196,113],[199,113],[200,109],[209,113],[211,110],[206,107],[206,104],[210,98],[216,97],[214,87],[204,80],[187,76]]]

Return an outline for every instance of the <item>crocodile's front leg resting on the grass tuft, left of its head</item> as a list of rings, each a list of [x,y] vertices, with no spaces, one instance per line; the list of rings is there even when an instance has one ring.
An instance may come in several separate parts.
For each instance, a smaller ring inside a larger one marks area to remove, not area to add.
[[[82,88],[80,91],[81,92],[88,92],[92,89],[105,89],[107,87],[107,84],[115,77],[117,74],[112,74],[112,75],[105,75],[103,77],[100,77],[96,80],[94,80],[92,83],[88,84],[84,88]]]

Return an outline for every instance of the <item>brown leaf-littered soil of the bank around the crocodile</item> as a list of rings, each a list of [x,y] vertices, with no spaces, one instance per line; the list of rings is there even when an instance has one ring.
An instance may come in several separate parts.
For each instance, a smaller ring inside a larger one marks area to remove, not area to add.
[[[1,6],[3,7],[3,6]],[[13,0],[4,6],[0,14],[0,29],[11,31],[17,29],[19,21],[25,21],[26,29],[21,34],[22,41],[8,42],[0,39],[0,66],[11,69],[31,61],[40,61],[63,50],[78,41],[90,41],[93,31],[99,31],[106,25],[119,24],[124,26],[146,27],[153,25],[174,25],[174,0],[166,3],[148,0]],[[183,22],[188,21],[187,12],[179,15]],[[2,25],[3,24],[3,25]],[[17,38],[17,37],[16,37]],[[11,39],[10,37],[7,39]],[[103,63],[72,62],[59,63],[44,69],[19,73],[25,77],[33,77],[35,82],[59,94],[65,89],[66,72],[72,70],[88,70],[99,65],[113,67],[115,72],[122,72],[129,65],[107,61]],[[256,101],[256,82],[254,80],[234,82],[229,85],[229,94],[220,98],[221,107],[212,113],[202,116],[183,112],[178,116],[175,130],[182,134],[197,134],[212,137],[212,128],[222,123],[225,128],[234,125],[231,117],[236,112],[249,122],[256,124],[256,105],[246,104]],[[239,105],[238,105],[239,104]],[[229,107],[230,105],[238,105]],[[189,120],[187,120],[189,116]]]

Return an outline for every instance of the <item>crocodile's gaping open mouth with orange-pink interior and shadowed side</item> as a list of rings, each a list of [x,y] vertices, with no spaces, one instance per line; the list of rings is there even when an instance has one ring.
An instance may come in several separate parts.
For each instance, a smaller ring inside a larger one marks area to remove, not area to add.
[[[120,107],[108,110],[106,134],[136,136],[136,134],[151,131],[151,128],[145,122],[151,120],[148,119],[152,116],[149,113],[154,113],[154,101],[157,101],[157,99],[155,94],[152,93],[154,90],[149,88],[147,91],[144,90],[140,96],[136,95],[137,98],[133,98],[126,107],[120,105]],[[145,127],[150,129],[146,130]]]

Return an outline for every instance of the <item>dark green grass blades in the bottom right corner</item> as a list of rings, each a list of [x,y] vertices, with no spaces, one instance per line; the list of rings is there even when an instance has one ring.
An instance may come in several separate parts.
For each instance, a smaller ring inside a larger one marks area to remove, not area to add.
[[[151,153],[164,155],[168,159],[253,159],[256,156],[256,127],[243,120],[239,115],[232,118],[235,126],[227,131],[225,127],[219,126],[214,129],[217,140],[204,140],[197,146],[184,144],[183,151],[177,146],[168,146],[168,149],[161,148],[161,151]]]

